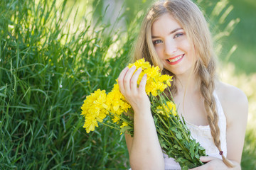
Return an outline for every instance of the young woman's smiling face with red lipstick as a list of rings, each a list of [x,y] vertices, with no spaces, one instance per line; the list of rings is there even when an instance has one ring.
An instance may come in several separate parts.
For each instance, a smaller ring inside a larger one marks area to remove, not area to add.
[[[183,28],[169,13],[154,21],[151,35],[165,69],[176,75],[192,72],[195,62],[192,46]]]

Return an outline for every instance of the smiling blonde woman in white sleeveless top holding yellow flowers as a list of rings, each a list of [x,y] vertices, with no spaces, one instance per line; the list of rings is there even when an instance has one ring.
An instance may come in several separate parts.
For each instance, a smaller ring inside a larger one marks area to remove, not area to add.
[[[207,22],[190,0],[159,1],[146,14],[134,47],[134,60],[144,57],[162,74],[174,75],[172,94],[197,142],[209,157],[195,169],[241,169],[247,123],[247,98],[240,89],[215,77],[215,54]],[[159,145],[146,75],[125,68],[119,89],[134,109],[134,137],[126,135],[129,161],[135,169],[181,169]]]

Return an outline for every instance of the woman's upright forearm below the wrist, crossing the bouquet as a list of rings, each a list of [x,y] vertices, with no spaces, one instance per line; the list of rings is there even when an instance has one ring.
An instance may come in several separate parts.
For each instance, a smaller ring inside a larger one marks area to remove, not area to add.
[[[164,169],[164,157],[150,108],[134,114],[134,139],[130,149],[132,169]]]

